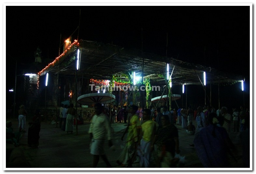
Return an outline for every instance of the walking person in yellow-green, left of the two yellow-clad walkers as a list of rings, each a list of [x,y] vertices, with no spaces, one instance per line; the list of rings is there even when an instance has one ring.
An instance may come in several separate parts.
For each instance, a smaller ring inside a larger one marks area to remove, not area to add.
[[[131,114],[131,117],[129,118],[128,126],[121,137],[121,140],[123,141],[125,134],[128,133],[126,145],[116,161],[116,163],[121,166],[132,167],[132,163],[136,158],[137,146],[140,142],[139,135],[141,133],[141,122],[136,115],[137,110],[138,106],[136,105],[131,105],[128,109],[128,113]]]

